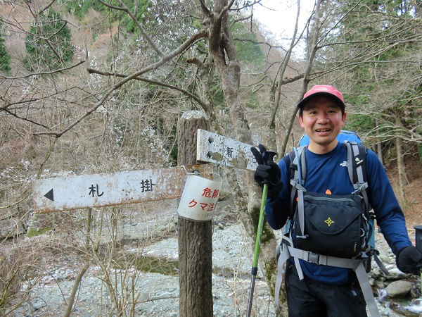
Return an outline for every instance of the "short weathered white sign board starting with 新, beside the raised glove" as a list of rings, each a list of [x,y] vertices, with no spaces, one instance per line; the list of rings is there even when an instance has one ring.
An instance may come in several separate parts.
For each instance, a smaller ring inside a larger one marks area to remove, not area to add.
[[[226,166],[255,170],[257,162],[250,151],[252,145],[238,142],[206,130],[198,130],[196,159]]]

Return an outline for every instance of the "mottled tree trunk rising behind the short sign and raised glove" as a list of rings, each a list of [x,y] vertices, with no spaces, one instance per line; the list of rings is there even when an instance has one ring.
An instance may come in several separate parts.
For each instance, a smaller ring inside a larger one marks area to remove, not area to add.
[[[228,14],[228,1],[215,1],[213,11],[205,7],[202,3],[204,21],[210,25],[209,32],[209,54],[215,63],[215,69],[219,75],[224,92],[224,101],[229,108],[231,123],[233,124],[236,139],[240,142],[252,144],[252,134],[250,132],[248,119],[245,116],[245,109],[239,98],[240,82],[241,82],[241,65],[237,58],[236,46],[231,37],[230,21]],[[238,189],[235,195],[236,212],[240,216],[250,242],[255,244],[255,234],[257,232],[258,218],[260,213],[261,190],[257,186],[252,177],[252,173],[248,173],[246,181],[248,182],[248,204],[238,186],[236,175],[233,173],[228,176],[229,184],[232,188]],[[276,278],[276,259],[274,233],[266,222],[264,231],[262,232],[261,253],[259,268],[263,271],[266,278],[270,293],[274,296],[274,282]],[[252,261],[251,261],[252,263]]]

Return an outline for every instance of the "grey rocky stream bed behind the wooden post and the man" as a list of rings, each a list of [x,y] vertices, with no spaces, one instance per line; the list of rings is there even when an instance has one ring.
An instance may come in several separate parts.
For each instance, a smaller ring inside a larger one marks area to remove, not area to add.
[[[169,208],[170,207],[170,208]],[[212,293],[215,316],[245,316],[250,287],[252,245],[228,205],[219,206],[215,217],[212,237],[213,274]],[[120,248],[124,254],[139,259],[155,259],[151,266],[165,268],[165,272],[139,271],[133,267],[125,270],[113,268],[105,275],[103,267],[91,263],[82,276],[70,316],[117,316],[113,311],[113,296],[120,298],[124,311],[132,316],[179,316],[179,280],[177,267],[177,214],[174,204],[164,211],[131,218],[120,230]],[[158,232],[154,241],[139,244],[146,232]],[[160,235],[159,233],[162,233]],[[412,235],[412,232],[410,232]],[[27,238],[27,244],[51,239],[54,232]],[[414,232],[413,232],[414,235]],[[77,235],[70,237],[75,240]],[[82,243],[70,241],[69,243]],[[390,271],[385,276],[373,263],[370,280],[378,293],[377,303],[381,316],[422,316],[421,289],[418,277],[404,275],[395,267],[392,253],[380,233],[376,233],[376,245],[381,261]],[[72,287],[82,269],[78,256],[56,252],[41,258],[39,275],[34,278],[30,298],[8,316],[65,316]],[[115,293],[103,282],[109,278],[115,285]],[[30,285],[21,285],[24,290]],[[133,291],[133,292],[132,292]],[[403,298],[402,298],[403,297]],[[126,300],[124,300],[126,299]],[[132,306],[132,303],[136,305]],[[132,306],[132,308],[131,308]],[[252,316],[276,316],[274,304],[266,282],[259,272],[255,284]]]

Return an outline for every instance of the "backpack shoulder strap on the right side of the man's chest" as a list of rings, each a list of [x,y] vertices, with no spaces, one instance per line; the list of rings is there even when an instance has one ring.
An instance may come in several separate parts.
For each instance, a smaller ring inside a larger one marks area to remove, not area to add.
[[[362,194],[365,201],[365,210],[369,212],[369,198],[366,192],[368,182],[366,178],[366,147],[357,142],[345,141],[347,148],[347,169],[350,182],[352,182],[354,192]]]

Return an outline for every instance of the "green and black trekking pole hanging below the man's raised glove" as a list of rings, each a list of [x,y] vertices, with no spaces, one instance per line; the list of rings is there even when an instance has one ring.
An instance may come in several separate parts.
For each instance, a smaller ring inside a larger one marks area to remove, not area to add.
[[[277,155],[276,152],[273,152],[273,151],[266,151],[266,152],[267,152],[267,161],[272,161],[274,156]],[[252,262],[252,270],[251,270],[252,276],[250,280],[248,312],[246,313],[247,317],[250,317],[250,312],[252,311],[253,290],[255,288],[255,279],[257,278],[257,272],[258,272],[258,257],[260,256],[261,235],[262,235],[262,227],[264,226],[264,209],[265,209],[265,204],[267,203],[267,192],[268,192],[268,182],[264,180],[264,187],[262,187],[260,220],[258,222],[257,240],[255,241],[255,251],[253,254],[253,262]]]

